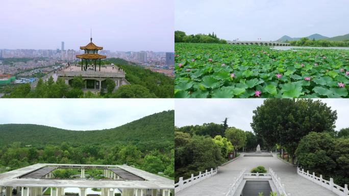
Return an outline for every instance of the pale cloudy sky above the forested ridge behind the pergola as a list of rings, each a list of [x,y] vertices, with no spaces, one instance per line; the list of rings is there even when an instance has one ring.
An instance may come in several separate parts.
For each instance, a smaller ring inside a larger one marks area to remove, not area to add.
[[[115,128],[164,110],[172,99],[2,99],[0,124],[36,124],[68,130]]]

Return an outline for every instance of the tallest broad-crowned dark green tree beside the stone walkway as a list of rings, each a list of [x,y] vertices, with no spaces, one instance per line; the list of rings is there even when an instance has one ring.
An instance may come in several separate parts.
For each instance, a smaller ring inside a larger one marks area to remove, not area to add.
[[[251,127],[272,145],[285,146],[294,163],[298,142],[310,132],[334,133],[337,112],[311,99],[267,99],[253,111]]]

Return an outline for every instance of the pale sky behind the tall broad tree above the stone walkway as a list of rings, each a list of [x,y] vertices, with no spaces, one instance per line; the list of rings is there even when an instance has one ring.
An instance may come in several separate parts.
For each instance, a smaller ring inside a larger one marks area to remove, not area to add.
[[[263,104],[264,99],[176,99],[174,124],[177,127],[202,125],[215,122],[222,124],[228,117],[228,125],[244,131],[252,131],[253,110]],[[349,99],[321,99],[332,110],[337,110],[335,130],[349,127]]]

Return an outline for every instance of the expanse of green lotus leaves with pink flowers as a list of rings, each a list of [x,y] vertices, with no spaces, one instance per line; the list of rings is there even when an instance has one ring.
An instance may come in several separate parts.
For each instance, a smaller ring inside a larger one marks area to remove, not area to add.
[[[349,50],[176,43],[175,97],[348,97]]]

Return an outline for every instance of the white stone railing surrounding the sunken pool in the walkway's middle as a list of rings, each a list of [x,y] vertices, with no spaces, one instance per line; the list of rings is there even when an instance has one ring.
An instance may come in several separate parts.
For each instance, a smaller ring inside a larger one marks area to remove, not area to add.
[[[244,173],[246,169],[242,169],[240,172],[239,176],[237,178],[234,178],[233,184],[231,184],[228,193],[226,196],[233,196],[237,190],[237,188],[240,186],[242,180],[248,179],[248,180],[253,180],[253,179],[271,179],[272,182],[275,184],[278,192],[282,196],[287,196],[290,194],[287,194],[285,191],[285,185],[281,184],[280,178],[275,174],[275,172],[269,168],[269,173]]]

